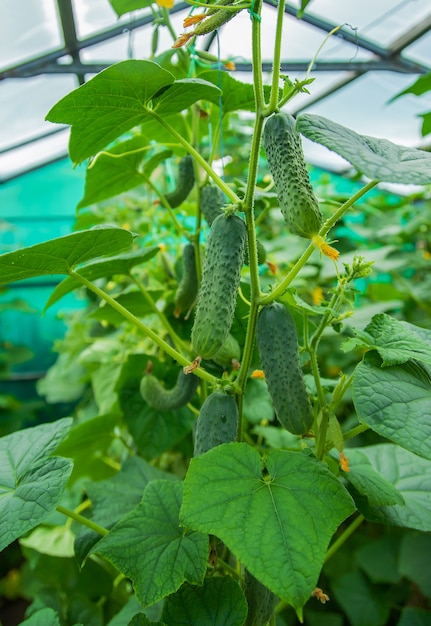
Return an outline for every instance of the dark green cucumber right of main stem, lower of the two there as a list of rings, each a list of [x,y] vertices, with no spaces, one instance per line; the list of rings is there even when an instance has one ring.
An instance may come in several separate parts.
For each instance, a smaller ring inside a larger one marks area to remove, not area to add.
[[[299,360],[296,327],[287,307],[274,302],[260,310],[256,340],[278,420],[289,432],[304,435],[313,424],[313,412]]]

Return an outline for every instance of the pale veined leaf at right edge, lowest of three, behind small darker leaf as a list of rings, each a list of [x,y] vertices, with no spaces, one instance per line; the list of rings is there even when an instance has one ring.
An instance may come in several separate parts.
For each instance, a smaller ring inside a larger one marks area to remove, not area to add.
[[[359,448],[378,474],[386,478],[404,498],[404,505],[371,506],[355,496],[366,519],[388,526],[405,526],[431,531],[431,463],[391,443]],[[350,454],[350,450],[349,450]]]

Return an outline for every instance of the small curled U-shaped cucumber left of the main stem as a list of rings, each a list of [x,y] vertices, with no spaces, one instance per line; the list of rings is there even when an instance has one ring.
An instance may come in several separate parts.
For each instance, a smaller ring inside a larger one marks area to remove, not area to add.
[[[180,409],[192,400],[199,384],[199,378],[194,374],[184,374],[181,369],[177,382],[171,389],[166,389],[160,380],[152,374],[145,374],[141,380],[140,392],[142,398],[153,409],[158,411],[173,411]]]

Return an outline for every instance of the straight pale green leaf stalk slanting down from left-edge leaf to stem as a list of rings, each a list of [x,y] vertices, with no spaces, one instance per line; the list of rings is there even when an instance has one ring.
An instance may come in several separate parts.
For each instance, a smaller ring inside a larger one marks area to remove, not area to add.
[[[113,309],[118,311],[120,315],[125,317],[129,322],[131,322],[137,328],[139,328],[139,330],[142,331],[142,333],[146,337],[149,337],[150,339],[152,339],[154,343],[159,346],[159,348],[161,348],[164,352],[166,352],[166,354],[169,354],[169,356],[171,356],[175,361],[180,363],[180,365],[188,366],[188,367],[192,365],[192,362],[189,359],[187,359],[180,352],[178,352],[178,350],[170,346],[166,341],[164,341],[164,339],[161,339],[153,330],[151,330],[151,328],[143,324],[140,319],[138,319],[135,315],[133,315],[133,313],[131,313],[128,309],[126,309],[119,302],[117,302],[115,298],[112,298],[109,294],[103,291],[103,289],[100,289],[99,287],[94,285],[92,282],[87,280],[84,276],[81,276],[80,274],[72,270],[69,272],[69,276],[78,280],[80,283],[85,285],[88,289],[93,291],[97,296],[99,296],[99,298],[101,298],[102,300],[107,302],[110,306],[112,306]],[[199,367],[194,370],[194,374],[198,376],[199,378],[202,378],[203,380],[206,380],[207,382],[211,383],[212,385],[215,385],[217,382],[217,379],[215,378],[215,376],[212,376],[212,374],[209,374],[208,372],[206,372],[205,370]]]

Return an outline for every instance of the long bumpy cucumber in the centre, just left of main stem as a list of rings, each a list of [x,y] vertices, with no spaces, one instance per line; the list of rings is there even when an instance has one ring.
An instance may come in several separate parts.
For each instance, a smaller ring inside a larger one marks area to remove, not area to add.
[[[220,350],[232,326],[245,239],[245,222],[236,215],[219,215],[212,223],[191,335],[203,359]]]

